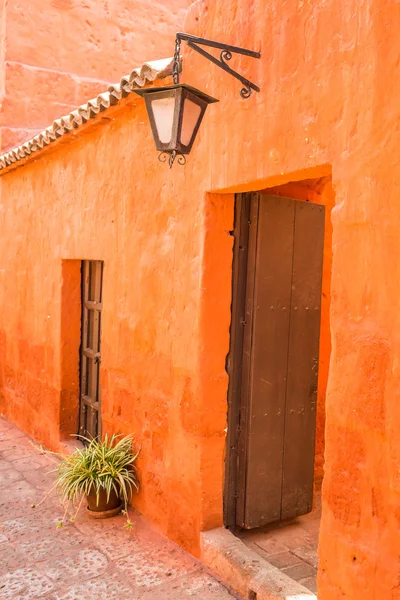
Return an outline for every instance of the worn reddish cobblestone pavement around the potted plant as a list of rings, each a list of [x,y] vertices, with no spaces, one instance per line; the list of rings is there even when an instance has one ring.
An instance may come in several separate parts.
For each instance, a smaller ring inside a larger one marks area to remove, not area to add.
[[[54,465],[0,417],[0,600],[233,600],[191,556],[131,515],[85,511],[61,529]]]

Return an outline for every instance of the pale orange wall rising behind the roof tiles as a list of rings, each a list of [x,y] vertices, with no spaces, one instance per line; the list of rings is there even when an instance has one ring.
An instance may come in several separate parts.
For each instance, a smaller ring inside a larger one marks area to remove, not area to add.
[[[0,119],[12,148],[144,61],[172,56],[190,0],[0,1]]]

